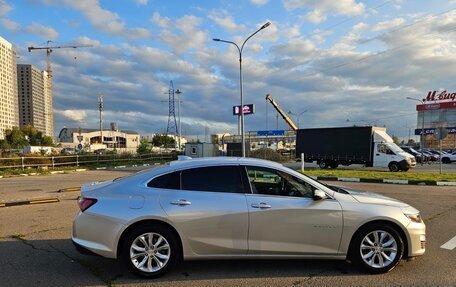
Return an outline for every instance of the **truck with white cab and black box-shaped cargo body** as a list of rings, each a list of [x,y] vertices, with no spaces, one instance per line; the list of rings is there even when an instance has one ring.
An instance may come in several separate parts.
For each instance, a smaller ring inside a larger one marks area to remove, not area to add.
[[[416,166],[415,157],[404,152],[381,127],[337,127],[298,129],[296,157],[316,161],[320,168],[363,164],[407,171]]]

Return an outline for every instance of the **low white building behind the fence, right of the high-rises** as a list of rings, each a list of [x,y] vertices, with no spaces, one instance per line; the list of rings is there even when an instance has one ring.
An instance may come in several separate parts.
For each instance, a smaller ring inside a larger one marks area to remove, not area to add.
[[[139,133],[135,131],[103,130],[101,140],[100,130],[82,128],[63,128],[58,137],[62,147],[73,147],[93,152],[106,148],[119,153],[136,153],[140,143]]]

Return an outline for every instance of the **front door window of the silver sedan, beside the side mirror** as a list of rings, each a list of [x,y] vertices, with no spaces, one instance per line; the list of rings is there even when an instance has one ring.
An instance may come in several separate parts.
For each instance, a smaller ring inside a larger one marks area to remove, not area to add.
[[[311,198],[315,190],[309,183],[279,170],[248,166],[247,175],[257,194]]]

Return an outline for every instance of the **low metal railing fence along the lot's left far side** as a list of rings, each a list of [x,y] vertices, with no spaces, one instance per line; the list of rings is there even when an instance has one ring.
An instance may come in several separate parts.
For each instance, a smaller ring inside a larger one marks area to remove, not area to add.
[[[128,163],[133,161],[170,161],[177,158],[175,153],[166,154],[91,154],[66,156],[23,156],[0,158],[0,170],[12,168],[56,168],[59,166],[80,166],[90,164]]]

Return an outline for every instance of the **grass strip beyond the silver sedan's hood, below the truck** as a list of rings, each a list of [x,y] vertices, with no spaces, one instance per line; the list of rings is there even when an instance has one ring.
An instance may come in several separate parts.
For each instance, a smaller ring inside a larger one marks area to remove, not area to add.
[[[366,179],[400,179],[412,181],[449,181],[456,182],[455,173],[434,173],[434,172],[389,172],[389,171],[361,171],[361,170],[306,170],[307,176],[318,177],[348,177]]]

